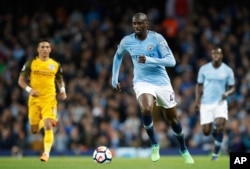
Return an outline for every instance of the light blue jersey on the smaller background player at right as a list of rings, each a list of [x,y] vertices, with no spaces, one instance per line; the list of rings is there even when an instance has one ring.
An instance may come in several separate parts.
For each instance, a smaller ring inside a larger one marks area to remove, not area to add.
[[[214,68],[212,62],[203,65],[197,78],[198,84],[203,84],[202,104],[213,104],[221,100],[228,86],[235,84],[233,70],[222,63]]]

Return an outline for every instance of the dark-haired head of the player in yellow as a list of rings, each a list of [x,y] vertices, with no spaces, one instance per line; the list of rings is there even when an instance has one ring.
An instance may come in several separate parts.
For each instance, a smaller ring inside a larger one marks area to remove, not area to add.
[[[39,57],[49,57],[51,52],[51,44],[48,39],[40,39],[37,45],[37,52]]]

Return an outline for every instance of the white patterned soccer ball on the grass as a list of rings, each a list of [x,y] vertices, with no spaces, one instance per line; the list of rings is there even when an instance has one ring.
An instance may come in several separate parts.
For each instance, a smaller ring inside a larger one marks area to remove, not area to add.
[[[112,153],[106,146],[99,146],[93,152],[93,160],[95,163],[110,163]]]

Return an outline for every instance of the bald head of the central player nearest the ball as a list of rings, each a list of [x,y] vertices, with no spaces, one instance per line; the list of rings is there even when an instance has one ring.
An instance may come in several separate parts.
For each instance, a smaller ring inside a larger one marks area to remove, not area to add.
[[[138,37],[146,35],[148,29],[148,17],[145,13],[136,13],[132,18],[132,24]]]

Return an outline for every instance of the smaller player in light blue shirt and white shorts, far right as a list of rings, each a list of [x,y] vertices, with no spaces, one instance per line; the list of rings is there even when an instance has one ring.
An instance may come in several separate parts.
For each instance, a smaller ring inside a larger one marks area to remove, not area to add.
[[[201,66],[197,77],[196,108],[202,132],[214,137],[212,160],[217,160],[228,119],[227,97],[235,91],[233,70],[222,62],[221,48],[212,50],[212,61]]]

